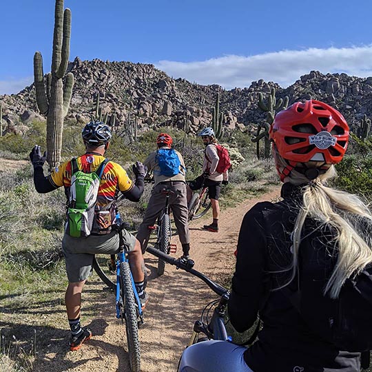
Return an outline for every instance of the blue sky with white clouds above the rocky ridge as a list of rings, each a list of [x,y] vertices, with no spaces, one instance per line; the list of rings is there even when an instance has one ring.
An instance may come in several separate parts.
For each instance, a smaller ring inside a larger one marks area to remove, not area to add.
[[[372,76],[372,2],[65,0],[70,60],[154,63],[174,78],[227,89],[265,79],[285,87],[311,70]],[[50,71],[54,0],[3,0],[0,94]]]

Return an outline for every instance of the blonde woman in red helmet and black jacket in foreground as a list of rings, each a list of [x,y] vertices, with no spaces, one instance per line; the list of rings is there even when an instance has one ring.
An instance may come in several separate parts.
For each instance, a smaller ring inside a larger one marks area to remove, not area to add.
[[[364,309],[342,301],[366,291],[372,302],[372,215],[357,196],[326,185],[349,127],[333,107],[307,101],[279,112],[269,134],[282,201],[258,203],[245,215],[228,306],[237,331],[252,327],[258,313],[263,327],[248,348],[223,341],[187,348],[179,371],[360,370],[361,335],[354,342],[347,325]],[[200,368],[203,360],[210,370]]]

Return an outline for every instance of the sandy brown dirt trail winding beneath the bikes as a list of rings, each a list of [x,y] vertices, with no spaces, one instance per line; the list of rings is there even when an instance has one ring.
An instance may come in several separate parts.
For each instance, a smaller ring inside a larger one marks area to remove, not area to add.
[[[191,254],[196,262],[195,268],[217,281],[224,273],[232,273],[233,253],[242,217],[258,201],[273,200],[278,194],[276,187],[260,198],[245,200],[237,207],[221,211],[218,234],[200,229],[206,222],[209,223],[210,214],[206,219],[192,221]],[[177,237],[174,242],[180,251]],[[194,321],[200,317],[205,304],[216,295],[198,278],[170,265],[167,265],[165,274],[157,278],[156,260],[152,257],[150,254],[145,256],[152,275],[147,287],[150,300],[145,310],[145,324],[139,331],[141,366],[143,372],[174,372]],[[56,304],[54,311],[60,313],[59,321],[54,329],[40,330],[41,337],[48,341],[41,342],[41,347],[38,347],[34,371],[130,371],[125,329],[114,318],[114,296],[103,291],[103,285],[96,277],[87,283],[83,293],[83,311],[89,313],[88,309],[92,315],[85,315],[83,322],[90,323],[94,338],[81,350],[71,353],[65,351],[68,332],[65,330],[64,309]]]

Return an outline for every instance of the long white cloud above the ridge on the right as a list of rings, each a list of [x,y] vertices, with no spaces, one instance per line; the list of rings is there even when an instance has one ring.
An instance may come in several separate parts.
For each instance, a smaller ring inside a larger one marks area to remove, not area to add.
[[[351,48],[309,48],[307,50],[282,50],[255,56],[228,55],[207,61],[159,61],[156,68],[175,79],[182,77],[200,84],[219,84],[226,89],[249,87],[252,81],[264,79],[287,87],[318,70],[345,72],[348,75],[372,76],[372,45]]]

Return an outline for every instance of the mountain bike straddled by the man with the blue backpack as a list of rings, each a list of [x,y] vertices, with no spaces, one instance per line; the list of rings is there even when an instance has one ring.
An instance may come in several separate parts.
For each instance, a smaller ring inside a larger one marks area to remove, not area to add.
[[[176,251],[175,246],[171,244],[172,240],[172,228],[170,221],[170,205],[169,196],[174,194],[171,189],[164,189],[162,194],[165,195],[165,206],[161,210],[158,216],[158,223],[156,226],[149,226],[149,229],[156,229],[156,243],[154,247],[159,249],[165,254],[174,253]],[[158,258],[158,276],[163,275],[165,269],[165,262]]]

